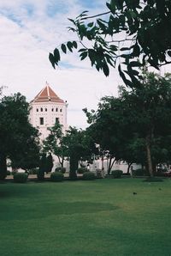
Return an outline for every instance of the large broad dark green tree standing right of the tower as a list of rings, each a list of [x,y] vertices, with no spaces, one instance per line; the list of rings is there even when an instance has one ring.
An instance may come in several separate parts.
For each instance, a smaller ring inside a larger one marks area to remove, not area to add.
[[[171,161],[171,75],[144,72],[141,87],[120,88],[120,96],[104,97],[96,113],[86,115],[96,143],[116,160],[146,165]]]

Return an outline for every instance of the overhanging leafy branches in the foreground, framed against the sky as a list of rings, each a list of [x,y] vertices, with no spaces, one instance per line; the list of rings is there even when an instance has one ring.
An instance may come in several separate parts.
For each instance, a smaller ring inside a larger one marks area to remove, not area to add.
[[[84,11],[69,19],[73,23],[69,30],[78,41],[56,48],[50,62],[55,68],[61,52],[77,49],[80,60],[89,58],[105,76],[110,67],[117,67],[127,86],[139,86],[139,66],[148,63],[159,69],[171,63],[171,1],[111,0],[106,6],[105,13],[90,16]]]

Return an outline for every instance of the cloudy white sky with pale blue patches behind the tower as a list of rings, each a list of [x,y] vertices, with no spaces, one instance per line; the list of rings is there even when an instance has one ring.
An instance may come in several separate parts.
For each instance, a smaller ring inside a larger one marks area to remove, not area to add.
[[[104,95],[116,95],[121,79],[116,70],[106,78],[80,62],[74,54],[62,56],[54,70],[49,52],[74,34],[68,32],[68,18],[85,9],[90,15],[106,10],[104,0],[0,0],[0,86],[3,94],[21,92],[32,101],[50,84],[62,100],[68,101],[68,125],[85,128],[82,108],[96,109]]]

